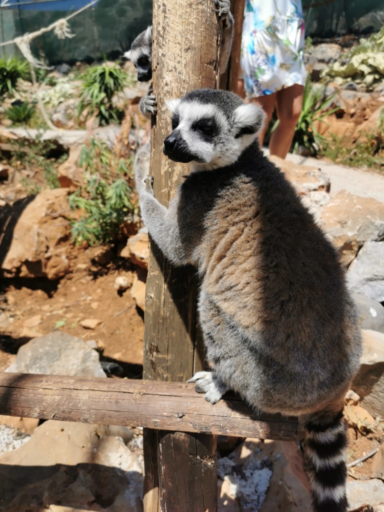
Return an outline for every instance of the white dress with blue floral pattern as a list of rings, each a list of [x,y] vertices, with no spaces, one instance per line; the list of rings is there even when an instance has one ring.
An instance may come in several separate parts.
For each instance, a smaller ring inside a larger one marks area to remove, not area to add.
[[[240,63],[248,98],[305,84],[301,0],[246,0]]]

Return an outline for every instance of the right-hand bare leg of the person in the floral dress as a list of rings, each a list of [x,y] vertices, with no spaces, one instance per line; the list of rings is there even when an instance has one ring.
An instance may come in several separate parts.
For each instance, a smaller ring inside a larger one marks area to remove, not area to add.
[[[276,93],[276,113],[279,124],[269,141],[271,155],[285,158],[292,144],[297,120],[302,111],[304,86],[295,83]]]

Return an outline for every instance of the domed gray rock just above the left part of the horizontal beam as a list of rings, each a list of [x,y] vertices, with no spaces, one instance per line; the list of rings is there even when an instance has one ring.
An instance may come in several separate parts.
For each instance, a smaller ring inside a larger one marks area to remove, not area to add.
[[[106,377],[99,355],[82,339],[55,331],[20,347],[6,372]]]

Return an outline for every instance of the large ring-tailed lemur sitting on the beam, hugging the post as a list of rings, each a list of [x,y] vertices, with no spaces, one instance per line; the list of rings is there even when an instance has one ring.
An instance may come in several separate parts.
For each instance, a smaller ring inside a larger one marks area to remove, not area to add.
[[[190,382],[216,403],[299,415],[316,512],[345,512],[343,398],[358,370],[360,327],[336,250],[283,173],[260,151],[264,113],[210,89],[169,102],[164,154],[192,162],[168,208],[136,168],[148,231],[201,275],[198,309],[213,372]]]

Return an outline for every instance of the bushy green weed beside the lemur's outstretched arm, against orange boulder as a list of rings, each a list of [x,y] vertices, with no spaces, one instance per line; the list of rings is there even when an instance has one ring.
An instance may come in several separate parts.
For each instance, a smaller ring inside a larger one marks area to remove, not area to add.
[[[91,139],[79,165],[84,184],[69,196],[70,207],[80,210],[79,218],[71,220],[72,240],[76,245],[113,242],[126,215],[138,210],[132,160],[125,162],[105,142]]]

